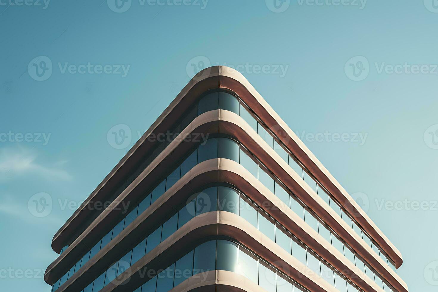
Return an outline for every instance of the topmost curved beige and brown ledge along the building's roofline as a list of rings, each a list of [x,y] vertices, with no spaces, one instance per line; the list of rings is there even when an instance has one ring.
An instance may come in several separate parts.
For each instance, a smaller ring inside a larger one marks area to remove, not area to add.
[[[358,223],[371,235],[389,257],[392,258],[396,263],[396,267],[402,264],[403,260],[399,250],[386,238],[360,206],[356,204],[352,197],[343,189],[328,170],[325,169],[302,141],[300,141],[286,123],[274,112],[245,77],[238,71],[223,66],[215,66],[202,70],[184,87],[155,123],[152,124],[141,139],[128,151],[127,155],[122,158],[95,191],[85,200],[84,204],[74,212],[71,218],[55,234],[52,242],[53,250],[59,252],[63,241],[69,238],[69,236],[74,236],[75,230],[78,228],[80,222],[83,222],[83,220],[90,215],[91,211],[85,208],[86,205],[93,200],[102,200],[106,194],[114,188],[120,178],[126,176],[127,171],[133,167],[139,157],[144,155],[148,149],[152,148],[154,144],[151,142],[146,143],[146,138],[152,133],[166,131],[199,95],[215,88],[227,89],[243,99],[260,119],[266,123],[266,125],[277,134],[279,139],[300,159],[303,165],[314,174],[320,183],[336,197],[339,203],[343,204],[350,214],[360,214],[355,217]]]

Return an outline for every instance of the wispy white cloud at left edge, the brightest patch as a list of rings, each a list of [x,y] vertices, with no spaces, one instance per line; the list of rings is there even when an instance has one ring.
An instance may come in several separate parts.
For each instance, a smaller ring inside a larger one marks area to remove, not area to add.
[[[72,179],[67,171],[60,168],[65,161],[47,165],[38,162],[37,158],[38,154],[35,151],[23,147],[0,149],[0,180],[23,175],[44,179]]]

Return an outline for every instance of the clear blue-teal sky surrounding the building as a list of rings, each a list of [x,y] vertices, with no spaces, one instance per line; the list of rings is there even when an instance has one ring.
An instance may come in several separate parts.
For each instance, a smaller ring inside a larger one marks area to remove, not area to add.
[[[54,233],[216,64],[239,68],[363,200],[410,291],[436,290],[436,0],[12,3],[0,1],[2,290],[50,291]],[[113,127],[131,131],[124,148]],[[32,208],[41,197],[47,214]]]

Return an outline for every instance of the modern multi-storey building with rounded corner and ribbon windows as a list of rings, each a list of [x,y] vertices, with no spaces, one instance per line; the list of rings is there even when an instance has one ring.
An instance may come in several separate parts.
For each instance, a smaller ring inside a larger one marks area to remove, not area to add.
[[[399,250],[239,72],[196,75],[55,234],[56,292],[407,292]]]

